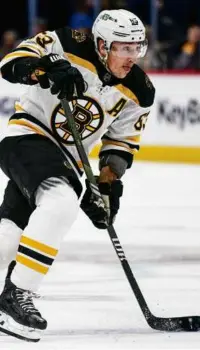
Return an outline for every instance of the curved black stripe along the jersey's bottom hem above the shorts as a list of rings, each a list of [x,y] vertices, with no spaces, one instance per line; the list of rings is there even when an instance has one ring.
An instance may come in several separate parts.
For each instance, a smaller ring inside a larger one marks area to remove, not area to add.
[[[59,137],[57,135],[53,134],[52,131],[49,128],[47,128],[47,126],[44,125],[41,121],[39,121],[38,119],[36,119],[35,117],[33,117],[32,115],[27,114],[27,113],[16,113],[16,114],[13,114],[12,117],[9,120],[12,120],[12,119],[27,119],[30,122],[40,126],[43,130],[45,130],[51,137],[53,137],[58,142],[58,144],[59,144],[60,148],[62,149],[63,153],[65,153],[66,157],[68,157],[71,160],[72,164],[74,165],[74,167],[78,171],[79,175],[83,174],[83,172],[80,170],[78,164],[76,163],[74,157],[63,146],[63,144],[61,143]]]

